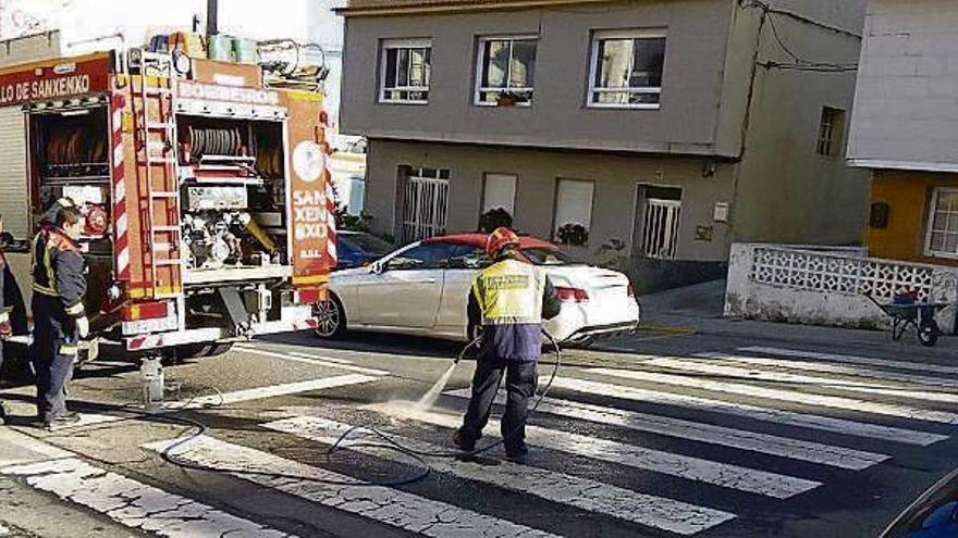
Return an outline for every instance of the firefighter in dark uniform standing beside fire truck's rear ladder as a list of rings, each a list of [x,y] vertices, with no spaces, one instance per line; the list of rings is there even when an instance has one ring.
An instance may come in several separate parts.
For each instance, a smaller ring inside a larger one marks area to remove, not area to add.
[[[89,334],[83,306],[85,262],[76,239],[83,230],[79,211],[61,205],[53,224],[41,223],[34,241],[34,353],[37,415],[48,429],[79,416],[66,410],[66,384],[73,376],[76,343]]]

